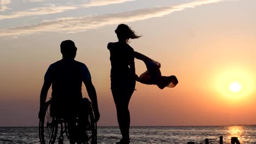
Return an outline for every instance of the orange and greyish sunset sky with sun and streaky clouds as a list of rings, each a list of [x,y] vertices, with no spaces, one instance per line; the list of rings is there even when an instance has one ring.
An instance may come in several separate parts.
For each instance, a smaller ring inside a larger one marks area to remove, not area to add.
[[[176,75],[174,88],[136,83],[131,125],[256,124],[254,0],[0,0],[0,126],[37,126],[51,63],[71,39],[97,91],[100,126],[118,125],[107,44],[119,23],[143,37],[135,51]],[[146,71],[135,61],[137,75]],[[51,91],[48,92],[48,99]],[[88,97],[83,86],[83,96]]]

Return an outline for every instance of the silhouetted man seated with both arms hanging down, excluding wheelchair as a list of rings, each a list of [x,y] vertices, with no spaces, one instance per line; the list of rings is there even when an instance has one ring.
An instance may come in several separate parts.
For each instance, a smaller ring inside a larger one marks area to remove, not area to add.
[[[75,61],[77,47],[72,40],[62,41],[62,59],[50,65],[44,76],[44,84],[40,93],[39,118],[42,119],[42,110],[48,90],[52,85],[51,94],[53,114],[65,119],[68,125],[69,142],[82,143],[86,124],[86,104],[82,96],[82,82],[94,106],[95,121],[100,118],[98,112],[97,95],[91,82],[91,75],[84,63]],[[78,124],[75,119],[78,117]]]

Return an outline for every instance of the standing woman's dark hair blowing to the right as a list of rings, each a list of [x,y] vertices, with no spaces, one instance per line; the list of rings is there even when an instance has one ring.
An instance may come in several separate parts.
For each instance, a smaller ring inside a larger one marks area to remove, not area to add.
[[[118,25],[117,29],[115,29],[115,33],[121,35],[121,37],[126,38],[127,40],[142,37],[141,35],[135,34],[135,31],[123,23]]]

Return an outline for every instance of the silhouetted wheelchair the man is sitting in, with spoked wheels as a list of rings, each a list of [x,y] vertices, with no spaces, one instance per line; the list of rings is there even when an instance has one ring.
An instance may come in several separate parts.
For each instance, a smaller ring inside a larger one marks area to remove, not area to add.
[[[87,99],[83,98],[87,104],[89,104],[88,116],[86,116],[87,124],[85,128],[85,141],[83,143],[86,144],[95,144],[97,143],[97,123],[94,118],[94,108],[92,103]],[[51,110],[52,100],[50,99],[44,105],[43,110],[43,119],[39,121],[39,139],[41,144],[54,144],[57,138],[57,131],[60,130],[59,134],[59,144],[63,143],[63,134],[68,135],[68,125],[65,119],[59,118],[53,115]],[[78,122],[78,118],[75,119],[76,123]]]

